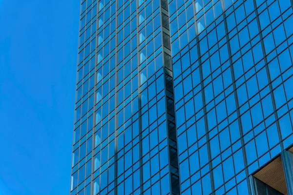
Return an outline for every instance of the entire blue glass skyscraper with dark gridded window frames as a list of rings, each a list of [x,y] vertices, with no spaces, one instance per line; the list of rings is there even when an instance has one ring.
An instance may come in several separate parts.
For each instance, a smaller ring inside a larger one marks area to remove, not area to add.
[[[71,195],[293,193],[292,24],[292,0],[82,0]]]

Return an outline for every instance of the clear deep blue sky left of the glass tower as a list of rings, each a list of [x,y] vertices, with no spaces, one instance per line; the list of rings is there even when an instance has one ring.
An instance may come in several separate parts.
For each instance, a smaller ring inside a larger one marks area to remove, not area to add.
[[[68,195],[80,0],[0,0],[0,195]]]

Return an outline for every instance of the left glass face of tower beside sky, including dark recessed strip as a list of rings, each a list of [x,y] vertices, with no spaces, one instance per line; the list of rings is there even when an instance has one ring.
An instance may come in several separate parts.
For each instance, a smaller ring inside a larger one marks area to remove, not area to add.
[[[167,6],[82,1],[71,195],[179,193]]]

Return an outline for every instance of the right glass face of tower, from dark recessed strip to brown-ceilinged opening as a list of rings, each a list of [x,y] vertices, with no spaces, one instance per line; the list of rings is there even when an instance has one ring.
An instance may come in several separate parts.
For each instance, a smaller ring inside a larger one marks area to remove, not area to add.
[[[292,0],[170,0],[182,195],[249,195],[293,144]]]

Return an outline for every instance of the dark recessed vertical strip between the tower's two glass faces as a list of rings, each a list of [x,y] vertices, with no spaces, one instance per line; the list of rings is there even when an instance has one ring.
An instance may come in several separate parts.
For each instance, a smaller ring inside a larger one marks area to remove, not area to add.
[[[161,9],[161,27],[162,27],[162,47],[163,47],[163,72],[165,79],[165,98],[166,98],[166,115],[167,115],[167,147],[169,157],[169,172],[171,193],[174,195],[180,194],[180,179],[179,179],[179,163],[177,151],[177,132],[175,119],[175,104],[174,104],[174,86],[173,86],[173,70],[171,62],[171,45],[170,45],[170,21],[168,13],[167,0],[160,0]]]

